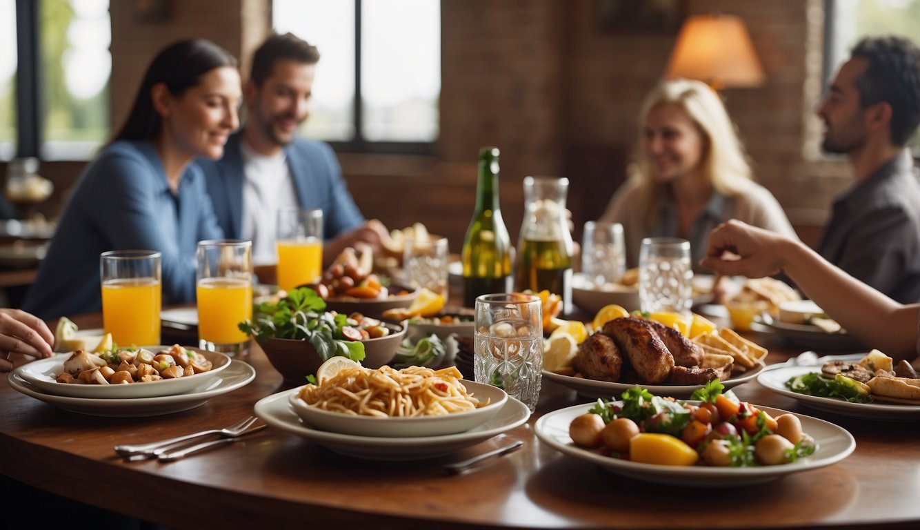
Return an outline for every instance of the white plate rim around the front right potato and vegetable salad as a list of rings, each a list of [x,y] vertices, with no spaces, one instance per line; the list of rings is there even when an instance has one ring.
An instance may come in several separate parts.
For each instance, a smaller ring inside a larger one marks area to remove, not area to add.
[[[652,481],[662,481],[661,478],[668,478],[668,480],[663,481],[677,484],[686,483],[687,480],[718,480],[719,485],[731,486],[735,484],[750,483],[753,481],[782,478],[793,473],[798,473],[800,471],[809,471],[812,469],[834,465],[844,460],[847,456],[851,455],[856,449],[857,443],[856,439],[853,437],[853,434],[845,430],[843,427],[830,421],[821,420],[819,418],[814,418],[812,416],[798,414],[795,412],[789,412],[783,409],[776,409],[773,407],[762,407],[760,405],[754,406],[758,409],[765,410],[767,413],[773,414],[774,416],[779,414],[793,414],[799,418],[799,421],[802,421],[802,429],[804,432],[809,432],[806,428],[806,425],[821,426],[823,429],[828,429],[835,432],[837,436],[844,436],[845,439],[848,440],[848,444],[844,449],[834,455],[827,455],[818,460],[811,460],[811,456],[809,456],[808,460],[799,460],[797,462],[784,464],[782,466],[680,467],[630,462],[628,460],[620,460],[609,456],[598,455],[597,453],[593,453],[588,449],[577,447],[571,443],[562,444],[553,436],[551,432],[548,431],[549,427],[547,424],[550,421],[553,421],[560,416],[574,414],[575,412],[587,412],[587,410],[591,409],[592,407],[592,404],[590,403],[574,405],[565,409],[558,409],[547,412],[535,422],[534,432],[540,442],[555,449],[559,453],[599,465],[615,474],[639,479],[642,479],[643,476],[647,476],[645,478],[648,478]],[[819,451],[821,451],[820,441],[816,440],[816,442],[819,442]],[[714,483],[707,481],[706,484],[711,486]]]

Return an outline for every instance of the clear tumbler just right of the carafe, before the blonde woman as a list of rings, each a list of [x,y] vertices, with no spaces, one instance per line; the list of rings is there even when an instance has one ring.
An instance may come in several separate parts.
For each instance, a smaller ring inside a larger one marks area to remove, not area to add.
[[[627,271],[623,225],[588,221],[581,237],[581,274],[586,282],[603,288],[620,281]]]

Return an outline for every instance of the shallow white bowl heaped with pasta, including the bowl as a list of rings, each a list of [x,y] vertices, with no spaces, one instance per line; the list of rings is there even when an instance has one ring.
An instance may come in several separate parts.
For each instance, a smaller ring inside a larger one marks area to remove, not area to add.
[[[469,431],[491,420],[508,395],[463,380],[454,366],[372,370],[355,363],[319,385],[301,386],[289,400],[320,431],[408,438]]]

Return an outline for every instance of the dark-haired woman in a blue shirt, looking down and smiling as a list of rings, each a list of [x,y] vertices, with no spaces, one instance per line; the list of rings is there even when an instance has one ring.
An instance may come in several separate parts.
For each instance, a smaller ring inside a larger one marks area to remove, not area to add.
[[[236,59],[213,42],[159,52],[128,120],[77,182],[23,309],[99,311],[99,254],[123,249],[159,251],[164,302],[194,300],[196,245],[224,236],[194,159],[224,154],[240,98]]]

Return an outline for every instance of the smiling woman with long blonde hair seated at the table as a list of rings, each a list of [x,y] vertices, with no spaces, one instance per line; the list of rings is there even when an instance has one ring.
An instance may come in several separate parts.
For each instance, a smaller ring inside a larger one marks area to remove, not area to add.
[[[689,239],[696,267],[709,231],[729,219],[798,238],[776,198],[753,182],[735,126],[705,83],[662,82],[646,98],[640,126],[637,163],[600,219],[623,224],[629,267],[650,236]]]

